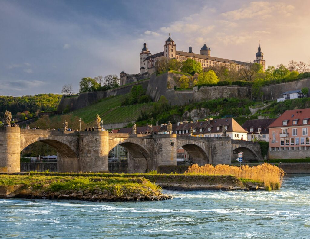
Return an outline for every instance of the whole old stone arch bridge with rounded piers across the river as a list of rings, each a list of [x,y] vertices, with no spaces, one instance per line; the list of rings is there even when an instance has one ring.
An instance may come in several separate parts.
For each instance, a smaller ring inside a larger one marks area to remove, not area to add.
[[[0,172],[20,172],[20,152],[37,141],[57,150],[59,172],[107,172],[108,153],[117,145],[129,152],[130,172],[148,172],[157,166],[176,165],[176,150],[180,147],[188,152],[192,163],[199,165],[229,164],[239,151],[247,152],[253,158],[261,158],[258,144],[225,137],[0,127]]]

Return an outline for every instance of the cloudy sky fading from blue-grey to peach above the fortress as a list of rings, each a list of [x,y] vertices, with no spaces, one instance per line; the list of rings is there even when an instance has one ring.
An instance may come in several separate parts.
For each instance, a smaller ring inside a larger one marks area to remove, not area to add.
[[[82,77],[139,72],[171,33],[177,50],[267,65],[310,59],[310,0],[0,0],[0,95],[78,90]]]

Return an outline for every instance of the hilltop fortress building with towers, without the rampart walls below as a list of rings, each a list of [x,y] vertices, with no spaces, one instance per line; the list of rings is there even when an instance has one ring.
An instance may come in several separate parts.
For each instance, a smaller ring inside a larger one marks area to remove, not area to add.
[[[155,63],[161,59],[177,59],[182,62],[187,59],[193,59],[201,63],[202,68],[211,66],[225,66],[228,69],[240,70],[243,67],[249,67],[251,63],[242,62],[237,60],[224,59],[219,57],[211,56],[211,48],[205,44],[200,49],[200,54],[193,53],[192,47],[189,46],[188,52],[176,50],[175,41],[170,37],[165,41],[164,51],[152,54],[146,47],[144,42],[143,48],[140,52],[140,73],[139,74],[126,74],[121,72],[121,85],[135,82],[137,80],[149,78],[151,74],[155,72]],[[255,55],[254,63],[261,64],[263,71],[266,70],[266,61],[263,59],[263,52],[261,52],[260,43],[258,46],[258,52]]]

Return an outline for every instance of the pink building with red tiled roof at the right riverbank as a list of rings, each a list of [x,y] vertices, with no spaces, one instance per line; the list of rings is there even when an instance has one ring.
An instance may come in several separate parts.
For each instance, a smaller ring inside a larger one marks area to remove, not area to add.
[[[268,128],[269,159],[310,157],[310,108],[285,111]]]

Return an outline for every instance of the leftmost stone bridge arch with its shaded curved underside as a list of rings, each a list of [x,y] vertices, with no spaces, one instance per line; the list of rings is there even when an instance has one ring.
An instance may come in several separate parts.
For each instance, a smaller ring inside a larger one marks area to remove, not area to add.
[[[79,172],[80,162],[78,159],[78,150],[72,146],[71,142],[66,141],[63,137],[57,136],[33,136],[21,135],[20,152],[27,146],[42,142],[57,151],[57,171],[58,172]]]

